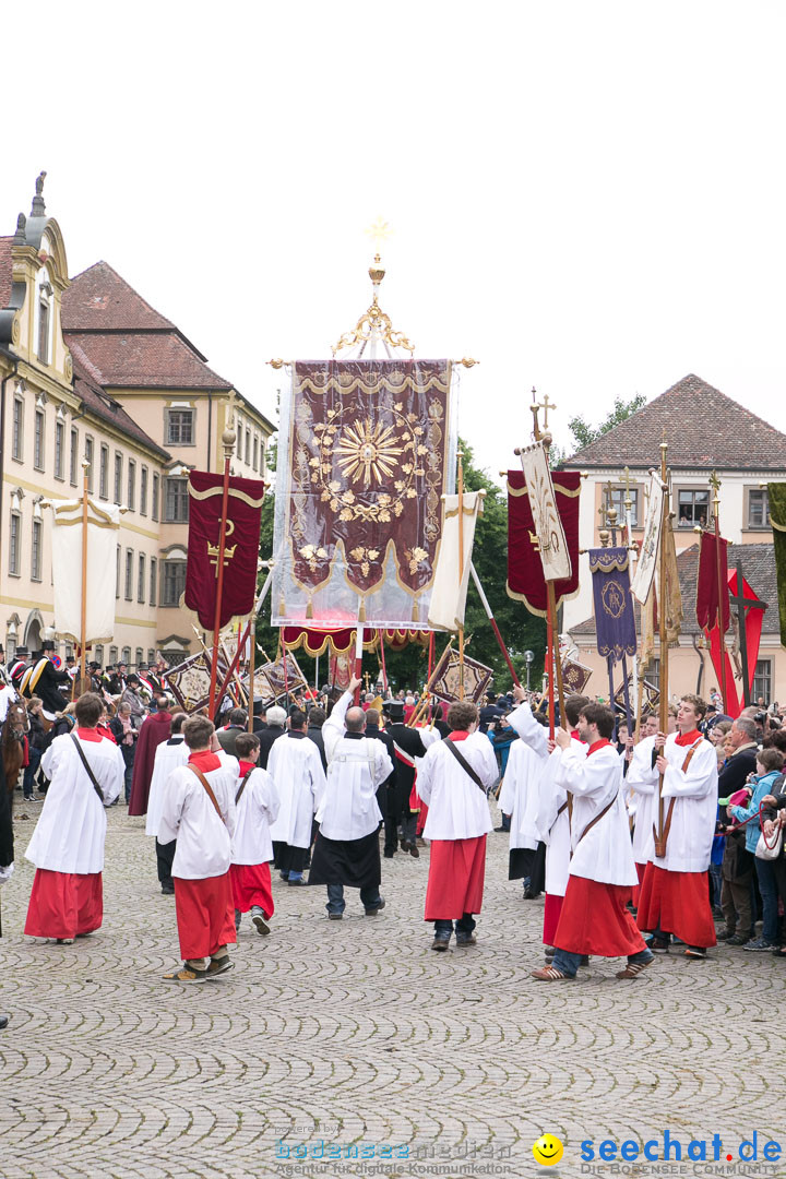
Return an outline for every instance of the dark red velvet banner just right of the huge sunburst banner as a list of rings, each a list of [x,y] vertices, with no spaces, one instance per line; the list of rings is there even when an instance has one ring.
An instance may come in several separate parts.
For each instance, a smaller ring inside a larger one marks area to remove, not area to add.
[[[579,592],[579,493],[577,470],[551,473],[564,539],[570,554],[572,574],[554,582],[556,606]],[[540,553],[534,545],[535,526],[522,470],[508,472],[508,595],[523,601],[531,614],[546,618],[547,591]]]

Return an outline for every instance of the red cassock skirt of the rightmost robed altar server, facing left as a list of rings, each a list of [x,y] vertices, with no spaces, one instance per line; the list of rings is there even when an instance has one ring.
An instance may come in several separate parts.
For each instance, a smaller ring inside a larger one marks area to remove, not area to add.
[[[672,872],[652,862],[639,895],[639,929],[662,929],[686,946],[716,946],[706,872]]]

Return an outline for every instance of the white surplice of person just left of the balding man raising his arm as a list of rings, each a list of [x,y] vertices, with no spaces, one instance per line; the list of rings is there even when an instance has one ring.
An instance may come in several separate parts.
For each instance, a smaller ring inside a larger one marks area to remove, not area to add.
[[[310,847],[311,821],[325,783],[318,747],[305,733],[299,737],[284,733],[271,745],[267,772],[278,796],[278,818],[271,824],[271,839],[290,848]]]

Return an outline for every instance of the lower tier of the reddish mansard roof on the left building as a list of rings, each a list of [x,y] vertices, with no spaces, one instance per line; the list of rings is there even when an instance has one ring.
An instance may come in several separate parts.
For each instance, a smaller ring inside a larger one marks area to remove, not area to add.
[[[113,388],[231,389],[180,336],[170,332],[65,331],[73,353],[80,349],[94,378]]]

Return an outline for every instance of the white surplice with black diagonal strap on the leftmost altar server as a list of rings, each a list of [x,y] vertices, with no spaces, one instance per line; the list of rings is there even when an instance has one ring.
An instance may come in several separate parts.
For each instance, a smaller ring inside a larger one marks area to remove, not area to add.
[[[25,856],[47,871],[91,875],[104,871],[104,808],[120,795],[125,764],[123,753],[108,737],[79,744],[101,788],[104,804],[85,772],[71,733],[55,737],[41,758],[41,769],[51,783]]]

